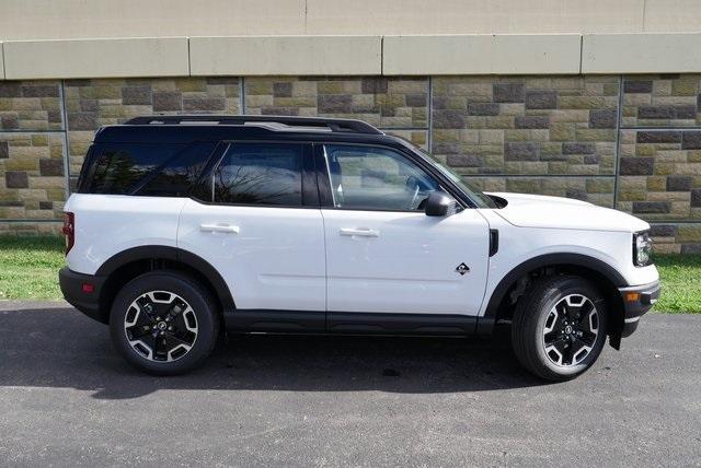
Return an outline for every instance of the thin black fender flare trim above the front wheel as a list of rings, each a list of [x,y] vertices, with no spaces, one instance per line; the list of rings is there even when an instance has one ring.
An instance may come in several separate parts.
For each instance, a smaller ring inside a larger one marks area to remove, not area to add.
[[[490,302],[486,306],[486,311],[482,316],[485,321],[493,321],[496,318],[496,313],[512,284],[521,278],[529,271],[538,268],[555,265],[572,265],[575,267],[584,267],[589,270],[597,271],[608,279],[614,286],[624,288],[628,282],[623,276],[613,267],[607,262],[599,260],[598,258],[590,257],[582,254],[545,254],[538,257],[530,258],[522,264],[519,264],[516,268],[509,271],[494,289]]]

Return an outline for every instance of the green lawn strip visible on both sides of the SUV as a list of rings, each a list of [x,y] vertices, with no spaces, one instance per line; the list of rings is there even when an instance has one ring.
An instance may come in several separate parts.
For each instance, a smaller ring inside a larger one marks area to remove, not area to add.
[[[657,256],[663,295],[655,309],[701,314],[701,255]],[[60,237],[0,237],[0,300],[61,299]]]

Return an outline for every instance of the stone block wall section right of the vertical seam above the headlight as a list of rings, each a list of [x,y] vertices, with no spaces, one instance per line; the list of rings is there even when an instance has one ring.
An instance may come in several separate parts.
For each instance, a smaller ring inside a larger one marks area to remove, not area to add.
[[[625,77],[621,114],[617,208],[658,251],[701,253],[701,74]]]

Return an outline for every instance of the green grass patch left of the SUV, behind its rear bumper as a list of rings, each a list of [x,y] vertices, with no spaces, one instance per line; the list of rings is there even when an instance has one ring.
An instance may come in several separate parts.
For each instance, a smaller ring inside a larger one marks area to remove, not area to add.
[[[0,299],[62,299],[62,237],[0,237]]]

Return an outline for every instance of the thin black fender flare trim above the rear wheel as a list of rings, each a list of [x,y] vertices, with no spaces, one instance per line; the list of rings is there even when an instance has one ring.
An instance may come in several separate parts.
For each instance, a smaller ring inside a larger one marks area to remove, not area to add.
[[[105,260],[95,272],[95,276],[107,278],[127,264],[151,259],[173,260],[189,266],[209,281],[225,311],[233,311],[235,308],[231,291],[221,274],[219,274],[219,271],[198,255],[177,247],[145,245],[128,248]]]

